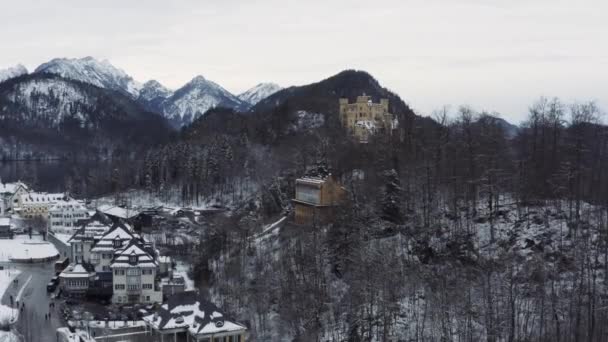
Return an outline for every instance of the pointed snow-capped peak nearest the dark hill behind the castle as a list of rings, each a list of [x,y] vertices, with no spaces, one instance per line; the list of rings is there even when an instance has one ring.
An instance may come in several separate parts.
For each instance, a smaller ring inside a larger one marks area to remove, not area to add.
[[[215,82],[196,76],[164,101],[165,117],[174,125],[189,124],[211,108],[225,107],[242,110],[247,103]]]

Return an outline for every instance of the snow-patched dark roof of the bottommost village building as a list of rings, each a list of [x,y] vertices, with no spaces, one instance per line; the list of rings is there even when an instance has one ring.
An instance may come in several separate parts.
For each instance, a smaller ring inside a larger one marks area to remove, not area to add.
[[[183,329],[197,337],[247,330],[244,325],[228,319],[217,306],[194,291],[169,297],[158,313],[144,317],[144,321],[154,329]]]

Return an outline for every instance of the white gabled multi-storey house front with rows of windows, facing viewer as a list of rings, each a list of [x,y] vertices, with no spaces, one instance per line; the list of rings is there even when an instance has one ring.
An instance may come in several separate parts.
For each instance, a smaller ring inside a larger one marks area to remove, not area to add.
[[[161,303],[156,282],[158,264],[136,240],[119,251],[112,265],[112,303]]]

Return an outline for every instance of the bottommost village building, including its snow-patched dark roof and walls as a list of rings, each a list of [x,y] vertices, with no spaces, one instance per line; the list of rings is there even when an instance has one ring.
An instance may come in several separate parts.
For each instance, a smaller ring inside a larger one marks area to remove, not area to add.
[[[194,291],[170,296],[157,313],[143,319],[151,331],[149,341],[245,342],[247,333]]]

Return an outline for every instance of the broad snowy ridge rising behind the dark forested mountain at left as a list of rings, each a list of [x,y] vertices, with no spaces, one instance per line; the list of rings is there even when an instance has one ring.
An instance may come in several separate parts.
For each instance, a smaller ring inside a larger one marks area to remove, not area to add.
[[[116,68],[107,60],[100,62],[93,57],[55,58],[41,64],[34,72],[56,74],[101,88],[116,90],[132,98],[138,97],[141,88],[141,84],[123,70]]]

